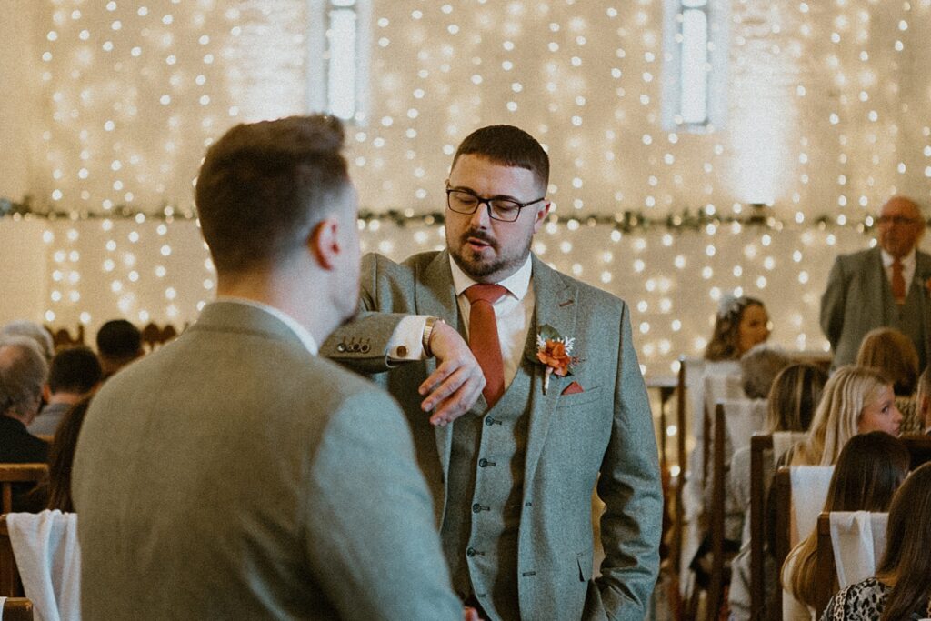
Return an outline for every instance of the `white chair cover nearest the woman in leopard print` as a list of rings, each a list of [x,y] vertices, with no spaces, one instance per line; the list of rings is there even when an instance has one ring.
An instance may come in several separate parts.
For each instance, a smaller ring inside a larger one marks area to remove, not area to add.
[[[830,512],[830,544],[841,588],[876,574],[876,564],[885,551],[888,521],[888,513]]]

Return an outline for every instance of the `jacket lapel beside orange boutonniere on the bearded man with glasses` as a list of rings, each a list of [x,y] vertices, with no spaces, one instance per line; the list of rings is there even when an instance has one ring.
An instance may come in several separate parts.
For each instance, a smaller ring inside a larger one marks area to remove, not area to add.
[[[531,380],[530,429],[527,437],[527,454],[524,462],[524,480],[533,479],[537,460],[543,450],[549,421],[563,388],[572,382],[571,377],[550,375],[549,387],[543,394],[546,367],[536,358],[536,334],[545,325],[552,326],[563,337],[575,336],[576,295],[578,287],[567,281],[560,274],[549,268],[546,263],[533,255],[533,294],[535,297],[533,312],[533,337],[527,339],[524,356],[533,363]]]

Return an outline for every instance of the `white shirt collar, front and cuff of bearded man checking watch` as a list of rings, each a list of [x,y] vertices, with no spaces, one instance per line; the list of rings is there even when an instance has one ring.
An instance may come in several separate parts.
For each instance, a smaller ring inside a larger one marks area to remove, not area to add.
[[[476,284],[476,281],[466,276],[466,273],[452,260],[452,256],[450,268],[452,269],[452,286],[456,291],[456,302],[459,304],[459,314],[466,325],[467,339],[471,304],[466,299],[465,291]],[[527,331],[530,330],[533,321],[535,297],[533,287],[531,287],[532,272],[533,262],[528,254],[527,260],[517,272],[496,283],[507,290],[506,294],[492,305],[494,317],[498,321],[498,341],[501,344],[505,387],[510,385],[511,380],[517,375],[524,344],[527,343]],[[401,319],[388,342],[389,358],[395,361],[425,358],[423,345],[425,323],[426,317],[423,315],[412,315]]]

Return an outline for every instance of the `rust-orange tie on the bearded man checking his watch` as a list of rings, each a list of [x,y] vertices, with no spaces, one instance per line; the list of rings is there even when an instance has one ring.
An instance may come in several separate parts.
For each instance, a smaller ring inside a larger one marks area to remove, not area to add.
[[[498,341],[498,322],[492,304],[507,290],[501,285],[472,285],[466,289],[471,305],[468,316],[468,346],[479,360],[485,374],[485,396],[492,408],[505,393],[505,364],[501,360],[501,343]]]

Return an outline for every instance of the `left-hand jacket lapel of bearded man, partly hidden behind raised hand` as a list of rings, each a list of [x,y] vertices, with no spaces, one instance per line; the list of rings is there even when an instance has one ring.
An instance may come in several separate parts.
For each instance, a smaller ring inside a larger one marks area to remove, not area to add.
[[[452,289],[452,272],[450,271],[450,254],[447,250],[439,252],[433,261],[423,269],[418,269],[414,276],[414,307],[420,315],[439,317],[453,328],[459,325],[459,304]],[[436,360],[426,360],[426,373],[437,368]],[[437,439],[439,461],[443,468],[443,480],[450,470],[450,452],[452,451],[452,425],[434,427]]]

